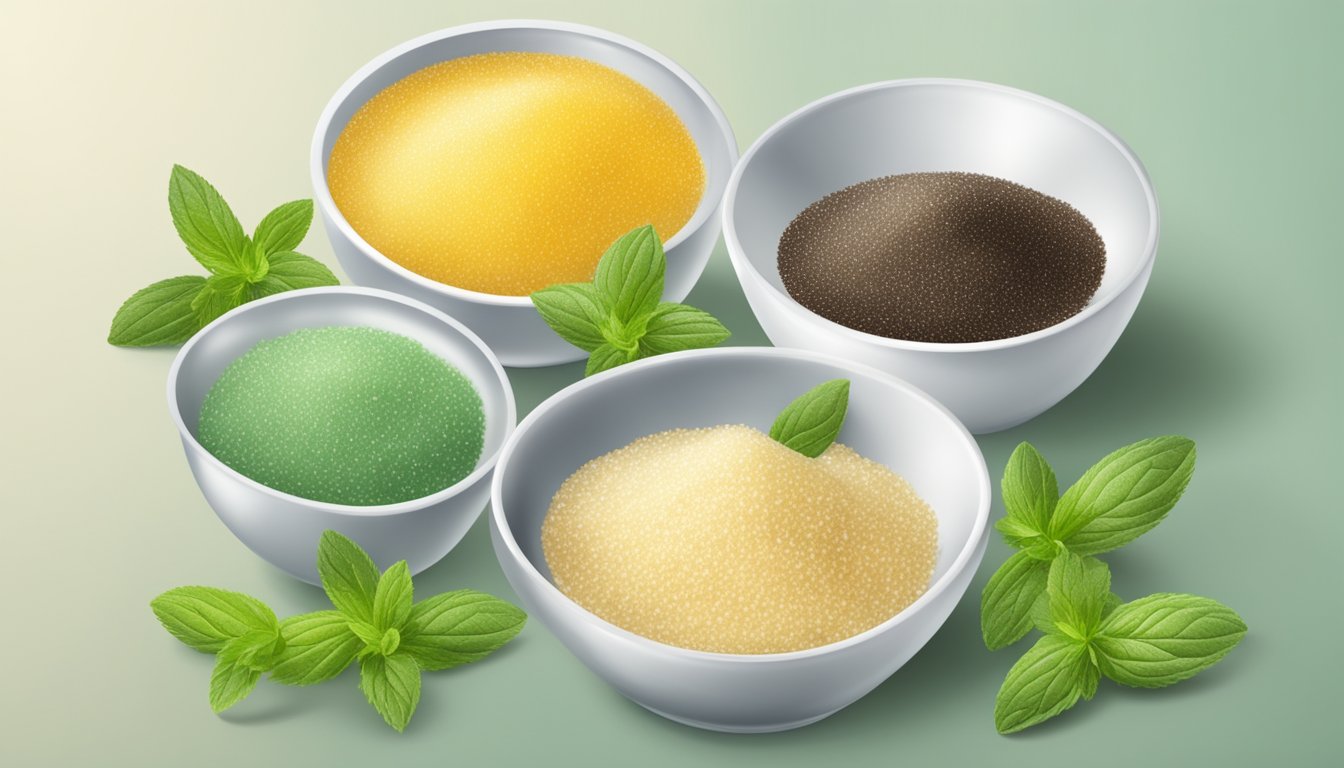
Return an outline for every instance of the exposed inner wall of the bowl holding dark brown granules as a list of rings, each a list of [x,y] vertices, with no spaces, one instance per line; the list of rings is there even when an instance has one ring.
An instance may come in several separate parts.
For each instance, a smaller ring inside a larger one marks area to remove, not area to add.
[[[1150,190],[1117,139],[1048,100],[968,81],[898,81],[805,108],[743,159],[728,225],[753,269],[788,297],[777,260],[793,217],[851,184],[927,171],[999,176],[1082,211],[1106,243],[1093,304],[1152,256]]]

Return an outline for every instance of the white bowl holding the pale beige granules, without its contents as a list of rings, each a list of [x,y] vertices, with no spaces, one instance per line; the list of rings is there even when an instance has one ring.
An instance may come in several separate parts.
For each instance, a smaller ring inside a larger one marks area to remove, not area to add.
[[[747,424],[767,430],[788,402],[833,378],[851,381],[840,441],[900,472],[938,516],[933,584],[909,608],[818,648],[711,654],[609,624],[551,582],[542,521],[560,483],[583,463],[679,426]],[[989,475],[976,441],[913,386],[814,352],[732,347],[625,364],[538,406],[500,455],[491,531],[504,574],[532,616],[618,691],[688,725],[766,732],[798,728],[855,702],[923,647],[980,565],[989,498]]]

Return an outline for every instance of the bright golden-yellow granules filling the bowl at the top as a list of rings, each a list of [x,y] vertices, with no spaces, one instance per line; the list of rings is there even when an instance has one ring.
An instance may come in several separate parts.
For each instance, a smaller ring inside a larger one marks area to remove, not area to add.
[[[591,280],[626,231],[695,214],[704,164],[681,120],[577,56],[477,54],[413,73],[336,139],[327,183],[370,245],[431,280],[523,296]]]

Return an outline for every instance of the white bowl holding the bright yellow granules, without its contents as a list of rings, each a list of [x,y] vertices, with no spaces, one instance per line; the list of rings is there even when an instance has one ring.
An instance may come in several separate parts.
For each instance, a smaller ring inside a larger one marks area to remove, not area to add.
[[[345,274],[360,285],[395,291],[448,312],[485,339],[505,366],[578,360],[587,354],[556,336],[527,296],[496,296],[445,285],[388,260],[349,226],[327,187],[332,147],[370,98],[430,65],[489,51],[563,54],[606,65],[657,94],[689,129],[704,161],[706,187],[691,221],[664,243],[668,269],[663,296],[668,301],[685,299],[704,272],[719,237],[719,206],[738,161],[738,144],[719,105],[675,62],[620,35],[559,22],[488,22],[433,32],[382,54],[332,97],[313,136],[312,175],[317,210]]]

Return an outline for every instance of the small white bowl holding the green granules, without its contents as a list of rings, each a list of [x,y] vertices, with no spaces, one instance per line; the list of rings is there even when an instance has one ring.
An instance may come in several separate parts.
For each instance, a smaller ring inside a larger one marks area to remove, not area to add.
[[[364,325],[415,339],[470,379],[485,409],[485,445],[476,469],[437,494],[356,507],[267,488],[215,459],[196,440],[200,404],[228,363],[262,339],[298,328]],[[489,477],[517,418],[513,390],[489,348],[465,325],[419,301],[370,288],[309,288],[243,304],[187,342],[168,374],[172,413],[196,484],[219,519],[254,553],[309,582],[317,539],[335,529],[380,566],[405,560],[413,573],[438,562],[489,500]]]

